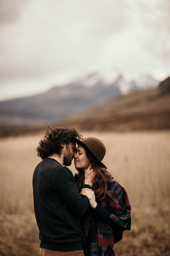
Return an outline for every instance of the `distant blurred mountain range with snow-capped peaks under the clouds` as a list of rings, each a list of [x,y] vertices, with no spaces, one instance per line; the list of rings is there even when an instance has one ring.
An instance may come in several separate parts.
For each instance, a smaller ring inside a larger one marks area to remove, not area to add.
[[[119,75],[112,82],[107,82],[100,74],[91,73],[45,93],[0,102],[0,126],[54,123],[121,94],[155,88],[158,84],[148,75],[130,82]]]

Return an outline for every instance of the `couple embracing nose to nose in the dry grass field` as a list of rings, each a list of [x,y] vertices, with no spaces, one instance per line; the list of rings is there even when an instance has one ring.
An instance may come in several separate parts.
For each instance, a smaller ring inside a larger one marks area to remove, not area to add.
[[[43,161],[33,174],[40,256],[115,255],[114,243],[130,230],[130,204],[101,162],[104,143],[83,139],[74,128],[49,129],[37,147]],[[75,177],[66,167],[73,158]]]

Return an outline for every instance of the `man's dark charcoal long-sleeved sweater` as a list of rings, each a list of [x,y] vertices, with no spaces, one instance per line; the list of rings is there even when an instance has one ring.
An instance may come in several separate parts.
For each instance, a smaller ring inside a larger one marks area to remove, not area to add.
[[[40,247],[56,251],[82,250],[80,217],[88,208],[89,200],[80,195],[71,170],[53,158],[45,158],[34,170],[33,197]]]

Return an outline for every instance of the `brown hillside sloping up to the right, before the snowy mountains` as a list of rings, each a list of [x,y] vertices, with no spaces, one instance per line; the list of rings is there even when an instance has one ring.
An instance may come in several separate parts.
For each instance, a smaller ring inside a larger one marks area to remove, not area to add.
[[[112,99],[57,125],[99,131],[170,129],[170,77],[158,89]]]

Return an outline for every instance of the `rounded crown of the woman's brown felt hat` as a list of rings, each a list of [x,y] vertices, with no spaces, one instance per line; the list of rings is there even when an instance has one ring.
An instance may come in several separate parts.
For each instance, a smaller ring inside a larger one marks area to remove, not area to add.
[[[90,149],[90,151],[100,160],[102,161],[106,154],[106,147],[103,141],[97,137],[87,137],[82,140],[84,144]]]

